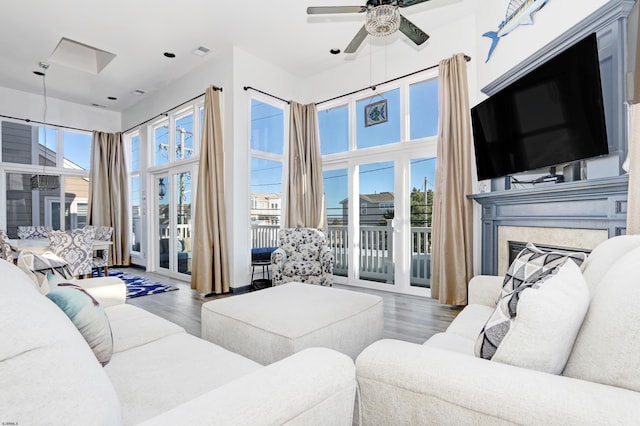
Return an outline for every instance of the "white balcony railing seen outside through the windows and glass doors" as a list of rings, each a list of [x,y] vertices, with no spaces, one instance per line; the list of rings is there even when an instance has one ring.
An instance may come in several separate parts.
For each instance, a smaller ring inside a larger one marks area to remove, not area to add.
[[[277,247],[278,225],[251,227],[252,247]],[[360,226],[360,277],[380,282],[393,282],[392,228],[387,226]],[[349,238],[346,225],[330,225],[327,232],[329,246],[335,262],[333,273],[347,276]],[[411,285],[428,287],[431,282],[431,228],[411,228]]]

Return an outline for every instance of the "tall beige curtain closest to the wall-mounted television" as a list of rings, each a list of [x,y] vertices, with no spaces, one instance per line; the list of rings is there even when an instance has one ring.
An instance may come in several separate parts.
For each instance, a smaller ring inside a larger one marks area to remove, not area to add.
[[[431,297],[467,304],[473,276],[473,155],[467,63],[457,54],[439,64],[439,133],[433,194]]]

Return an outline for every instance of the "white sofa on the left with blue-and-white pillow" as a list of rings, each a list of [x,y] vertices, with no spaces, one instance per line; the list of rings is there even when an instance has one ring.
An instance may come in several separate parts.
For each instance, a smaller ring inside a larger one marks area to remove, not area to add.
[[[0,260],[0,276],[3,424],[351,425],[346,355],[312,348],[263,367],[121,303],[122,282],[80,280],[107,305],[113,355],[102,367],[24,272]]]

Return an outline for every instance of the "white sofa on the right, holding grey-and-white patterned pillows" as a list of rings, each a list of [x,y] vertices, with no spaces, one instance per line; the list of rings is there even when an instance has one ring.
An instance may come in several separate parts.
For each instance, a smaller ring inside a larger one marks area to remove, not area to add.
[[[588,311],[562,374],[474,356],[503,281],[478,276],[445,333],[423,345],[380,340],[360,354],[361,424],[639,424],[640,236],[603,242],[582,274]]]

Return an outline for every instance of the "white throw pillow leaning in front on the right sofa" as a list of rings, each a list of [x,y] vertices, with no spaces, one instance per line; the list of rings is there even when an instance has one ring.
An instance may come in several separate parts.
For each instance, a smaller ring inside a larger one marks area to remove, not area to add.
[[[565,258],[500,299],[476,341],[476,356],[560,374],[588,307],[582,272]]]

